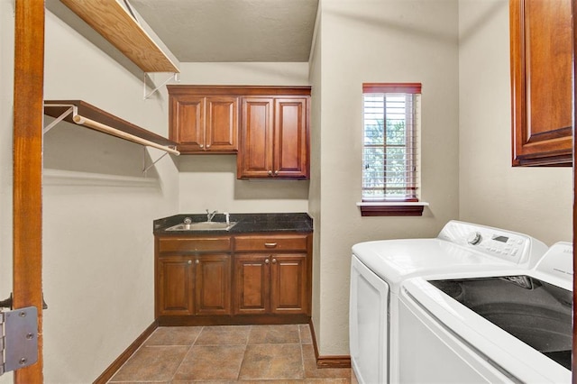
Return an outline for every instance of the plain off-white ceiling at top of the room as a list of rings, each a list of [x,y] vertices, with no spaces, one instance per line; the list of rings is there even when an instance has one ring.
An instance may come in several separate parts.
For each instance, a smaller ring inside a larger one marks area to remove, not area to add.
[[[318,0],[130,0],[181,62],[306,62]]]

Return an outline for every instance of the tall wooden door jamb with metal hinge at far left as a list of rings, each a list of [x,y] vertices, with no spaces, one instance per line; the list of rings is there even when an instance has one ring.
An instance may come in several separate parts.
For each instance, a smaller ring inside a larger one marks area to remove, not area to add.
[[[38,361],[14,383],[41,383],[44,0],[16,0],[14,21],[14,308],[38,309]],[[50,301],[50,298],[48,298]]]

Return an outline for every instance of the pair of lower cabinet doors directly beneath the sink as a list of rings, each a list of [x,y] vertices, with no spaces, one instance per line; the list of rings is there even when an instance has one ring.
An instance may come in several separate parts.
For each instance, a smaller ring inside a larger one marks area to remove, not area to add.
[[[158,261],[158,315],[230,315],[231,255],[176,255]]]

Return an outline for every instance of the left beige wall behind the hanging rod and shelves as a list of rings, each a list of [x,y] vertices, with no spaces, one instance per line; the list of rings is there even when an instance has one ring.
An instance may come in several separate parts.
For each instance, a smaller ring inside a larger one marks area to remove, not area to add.
[[[166,136],[166,90],[134,77],[46,13],[45,99],[81,99]],[[152,220],[178,212],[167,156],[60,123],[44,136],[44,378],[92,382],[154,321]]]

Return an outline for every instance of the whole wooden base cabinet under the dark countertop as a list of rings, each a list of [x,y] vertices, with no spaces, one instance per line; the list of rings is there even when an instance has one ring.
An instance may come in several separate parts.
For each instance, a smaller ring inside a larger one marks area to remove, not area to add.
[[[311,315],[312,233],[155,236],[160,325],[290,324]]]

